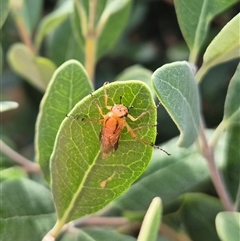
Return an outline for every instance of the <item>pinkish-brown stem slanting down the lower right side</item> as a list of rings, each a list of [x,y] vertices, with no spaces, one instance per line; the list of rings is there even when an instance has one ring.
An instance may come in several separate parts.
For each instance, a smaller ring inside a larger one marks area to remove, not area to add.
[[[214,149],[207,142],[207,138],[206,138],[205,131],[204,131],[203,121],[201,121],[201,123],[200,123],[200,137],[202,140],[202,153],[207,160],[211,179],[216,188],[217,194],[218,194],[225,210],[233,211],[234,210],[233,204],[228,196],[223,179],[216,166],[215,157],[214,157]]]

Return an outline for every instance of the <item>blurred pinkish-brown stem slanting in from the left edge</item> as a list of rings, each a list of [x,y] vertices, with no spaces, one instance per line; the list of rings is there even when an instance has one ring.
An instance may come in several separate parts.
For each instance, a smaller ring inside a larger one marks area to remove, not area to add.
[[[2,140],[0,140],[0,151],[8,156],[11,160],[21,165],[27,172],[40,173],[40,168],[37,163],[34,163],[22,155],[18,154]]]

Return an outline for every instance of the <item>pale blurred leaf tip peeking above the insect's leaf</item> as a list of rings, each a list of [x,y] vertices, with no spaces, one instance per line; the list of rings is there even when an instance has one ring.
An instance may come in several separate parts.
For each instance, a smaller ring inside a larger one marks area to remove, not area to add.
[[[152,71],[144,68],[141,65],[133,65],[126,68],[122,73],[120,73],[115,79],[116,80],[131,80],[137,79],[143,81],[150,88],[152,95],[155,96],[155,91],[152,86],[151,76]]]

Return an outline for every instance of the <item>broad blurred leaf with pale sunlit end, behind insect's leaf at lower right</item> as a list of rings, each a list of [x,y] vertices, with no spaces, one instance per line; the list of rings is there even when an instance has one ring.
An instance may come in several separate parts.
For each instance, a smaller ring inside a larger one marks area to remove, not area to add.
[[[208,131],[208,134],[212,133]],[[144,210],[154,197],[161,197],[167,208],[186,192],[201,191],[210,179],[205,159],[194,146],[186,149],[176,147],[172,139],[163,147],[171,153],[166,156],[155,150],[153,158],[141,176],[129,190],[112,205],[121,210]],[[223,136],[215,148],[218,168],[223,168],[226,138]]]

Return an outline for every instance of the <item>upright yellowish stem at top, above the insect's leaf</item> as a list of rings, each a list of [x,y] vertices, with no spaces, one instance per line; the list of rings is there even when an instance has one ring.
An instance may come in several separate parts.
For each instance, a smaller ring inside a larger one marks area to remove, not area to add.
[[[85,45],[85,67],[89,78],[94,84],[95,64],[96,64],[96,45],[97,33],[95,30],[95,17],[96,17],[97,0],[90,0],[89,2],[89,22],[88,31],[86,35]]]

